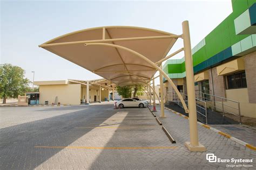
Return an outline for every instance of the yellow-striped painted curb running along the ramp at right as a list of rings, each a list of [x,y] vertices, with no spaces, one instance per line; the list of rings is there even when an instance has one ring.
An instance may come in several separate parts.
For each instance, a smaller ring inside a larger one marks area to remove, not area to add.
[[[185,119],[189,119],[187,116],[185,116],[185,115],[183,115],[183,114],[180,114],[180,113],[177,112],[177,111],[174,111],[174,110],[169,109],[169,108],[167,108],[167,107],[165,107],[165,109],[170,110],[170,111],[172,111],[174,114],[177,114],[177,115],[179,115],[179,116],[181,116],[181,117],[184,117]],[[256,146],[253,146],[253,145],[251,145],[251,144],[248,144],[248,143],[246,143],[245,141],[242,141],[242,140],[240,140],[240,139],[238,139],[238,138],[232,137],[230,134],[227,134],[227,133],[225,133],[225,132],[221,132],[220,130],[215,129],[215,128],[212,128],[211,126],[206,125],[206,124],[204,124],[204,123],[201,123],[201,122],[197,122],[197,123],[198,123],[199,125],[203,126],[203,127],[206,128],[206,129],[210,129],[210,130],[212,130],[212,131],[214,131],[214,132],[217,132],[217,133],[219,133],[221,136],[224,136],[224,137],[226,137],[226,138],[229,138],[229,139],[231,139],[231,140],[233,140],[233,141],[239,143],[239,144],[242,145],[242,146],[248,147],[248,148],[250,148],[251,150],[256,151]]]

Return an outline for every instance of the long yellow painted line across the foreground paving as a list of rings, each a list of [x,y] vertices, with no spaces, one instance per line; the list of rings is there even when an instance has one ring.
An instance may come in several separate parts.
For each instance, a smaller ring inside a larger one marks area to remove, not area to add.
[[[71,149],[99,149],[99,150],[156,150],[176,149],[177,146],[151,146],[151,147],[93,147],[93,146],[34,146],[35,148],[71,148]]]

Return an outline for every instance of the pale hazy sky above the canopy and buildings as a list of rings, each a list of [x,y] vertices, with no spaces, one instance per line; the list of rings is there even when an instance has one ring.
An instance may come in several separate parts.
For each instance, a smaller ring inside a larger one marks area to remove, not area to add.
[[[231,0],[0,1],[0,63],[22,67],[31,81],[32,71],[35,71],[35,81],[101,78],[38,47],[65,33],[126,25],[181,34],[181,23],[188,20],[194,47],[232,12]],[[178,40],[170,53],[182,46],[182,40]],[[183,53],[175,56],[181,57]]]

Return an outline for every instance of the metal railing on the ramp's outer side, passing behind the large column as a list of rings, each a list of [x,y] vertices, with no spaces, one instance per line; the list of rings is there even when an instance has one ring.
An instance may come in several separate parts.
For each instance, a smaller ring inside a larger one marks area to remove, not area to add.
[[[181,96],[183,97],[186,105],[187,105],[187,95],[184,94],[184,93],[180,93]],[[180,98],[178,97],[176,91],[168,91],[167,92],[167,100],[168,101],[172,101],[174,103],[177,103],[181,108],[183,108],[183,105],[181,104],[180,102]],[[188,105],[187,105],[188,106]],[[198,119],[201,121],[201,122],[204,122],[206,124],[208,124],[208,121],[207,121],[207,105],[206,105],[206,102],[203,101],[203,100],[200,100],[198,98],[196,98],[196,107],[197,107],[197,114],[205,117],[205,121],[200,119],[200,117],[198,117]]]

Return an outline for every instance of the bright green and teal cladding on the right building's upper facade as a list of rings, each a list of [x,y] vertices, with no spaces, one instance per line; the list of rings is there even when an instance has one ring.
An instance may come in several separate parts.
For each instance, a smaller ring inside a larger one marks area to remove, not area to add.
[[[205,45],[200,46],[193,53],[192,58],[195,73],[232,57],[233,45],[251,36],[251,34],[237,35],[234,19],[239,17],[241,13],[251,6],[251,13],[256,12],[253,8],[255,3],[256,0],[232,0],[233,12],[205,37]],[[166,74],[184,73],[185,62],[179,64],[171,62],[166,65],[166,68],[164,68]]]

